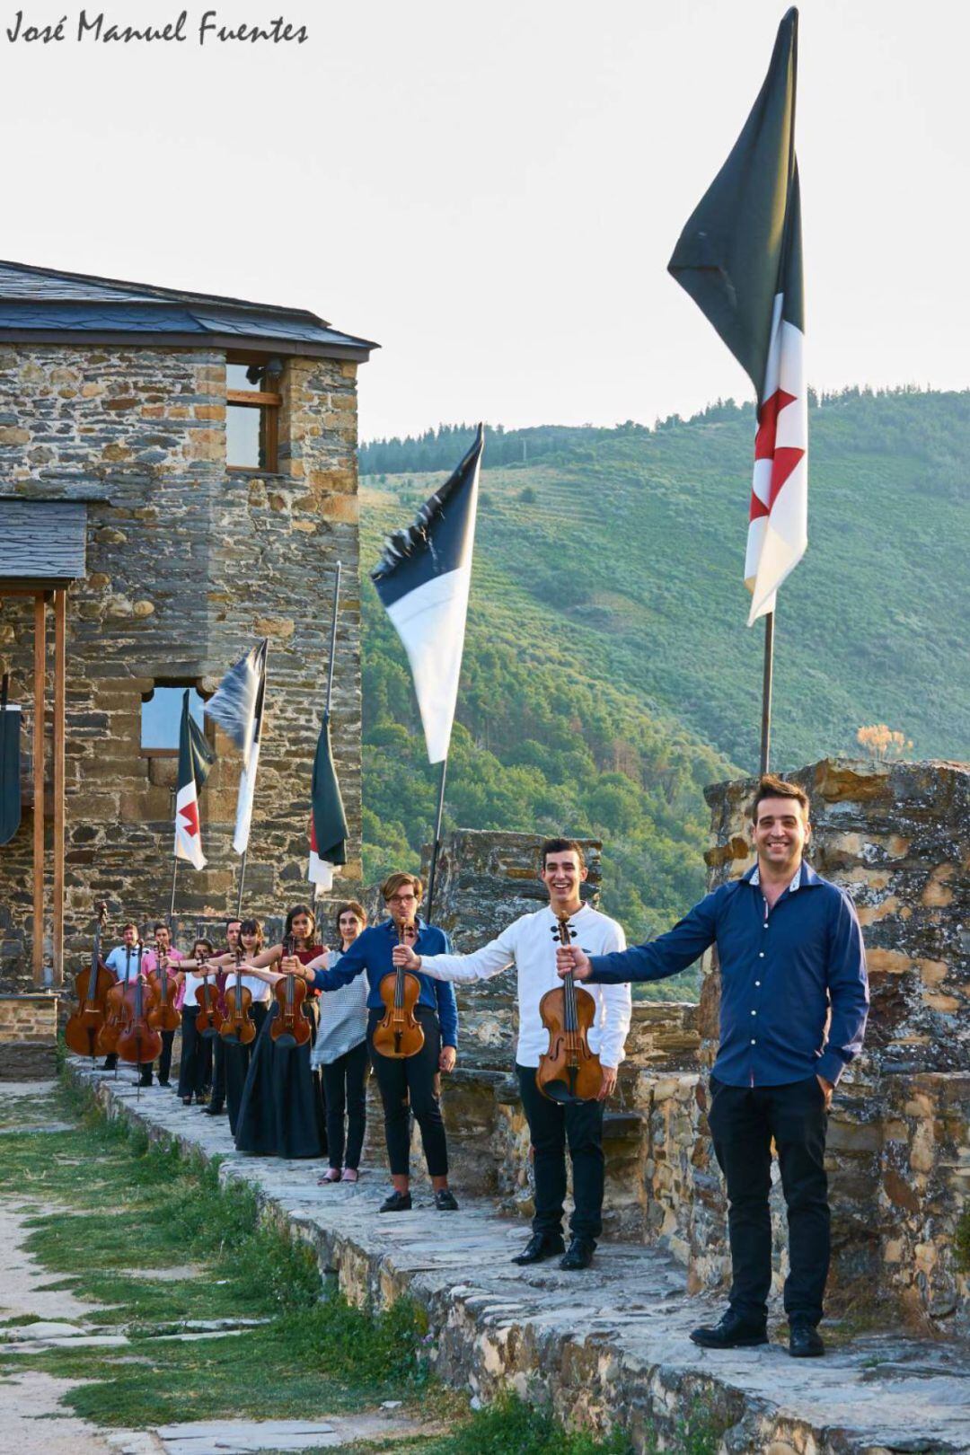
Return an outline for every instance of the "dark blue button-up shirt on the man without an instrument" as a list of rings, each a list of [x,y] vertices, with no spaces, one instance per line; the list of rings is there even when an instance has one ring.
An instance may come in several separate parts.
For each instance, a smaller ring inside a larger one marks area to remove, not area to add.
[[[843,889],[807,864],[768,911],[756,867],[707,895],[666,934],[593,956],[592,981],[662,981],[711,944],[721,970],[718,1081],[838,1081],[862,1049],[865,950]],[[830,1020],[829,1020],[830,1014]]]

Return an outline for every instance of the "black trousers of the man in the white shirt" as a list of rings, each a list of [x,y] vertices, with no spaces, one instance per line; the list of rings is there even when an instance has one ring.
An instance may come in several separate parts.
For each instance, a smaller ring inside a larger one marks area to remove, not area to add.
[[[604,1101],[572,1101],[563,1106],[544,1097],[535,1084],[535,1067],[519,1067],[522,1109],[532,1138],[535,1174],[535,1216],[532,1231],[563,1231],[566,1200],[566,1147],[573,1163],[573,1215],[569,1219],[574,1238],[598,1238],[604,1208]]]

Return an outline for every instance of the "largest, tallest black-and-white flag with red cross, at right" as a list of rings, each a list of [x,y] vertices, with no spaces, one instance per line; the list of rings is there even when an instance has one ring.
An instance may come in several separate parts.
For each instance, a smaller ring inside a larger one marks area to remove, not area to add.
[[[669,262],[758,393],[745,557],[749,626],[775,610],[778,586],[809,544],[797,70],[798,12],[791,9],[745,128]]]

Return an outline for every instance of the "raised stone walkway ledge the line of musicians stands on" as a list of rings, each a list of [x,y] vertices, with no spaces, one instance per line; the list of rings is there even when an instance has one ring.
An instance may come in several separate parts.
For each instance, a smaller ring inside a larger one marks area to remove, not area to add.
[[[855,1339],[826,1359],[791,1360],[782,1346],[716,1355],[688,1333],[720,1305],[688,1298],[684,1270],[656,1250],[604,1244],[593,1267],[516,1269],[521,1222],[487,1202],[438,1213],[425,1189],[412,1213],[378,1216],[385,1177],[317,1186],[318,1163],[250,1158],[225,1119],[183,1107],[154,1087],[93,1081],[112,1113],[151,1135],[224,1158],[223,1176],[250,1183],[268,1213],[310,1240],[356,1301],[410,1293],[429,1312],[442,1378],[492,1398],[500,1388],[545,1394],[560,1414],[605,1427],[621,1419],[641,1446],[653,1423],[676,1438],[691,1410],[714,1411],[724,1455],[970,1452],[970,1353],[887,1333]],[[458,1189],[461,1197],[461,1189]]]

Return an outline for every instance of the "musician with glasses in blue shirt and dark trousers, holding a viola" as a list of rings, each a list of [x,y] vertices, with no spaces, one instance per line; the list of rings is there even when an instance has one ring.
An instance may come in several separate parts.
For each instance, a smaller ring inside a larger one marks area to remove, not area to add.
[[[333,969],[320,968],[326,965],[324,956],[311,960],[305,970],[295,959],[282,965],[284,969],[305,975],[305,979],[320,991],[339,991],[366,970],[369,985],[366,1039],[384,1103],[384,1136],[394,1186],[391,1195],[381,1203],[381,1212],[410,1212],[412,1208],[410,1112],[414,1113],[420,1128],[435,1208],[439,1212],[454,1212],[458,1208],[448,1187],[448,1144],[438,1096],[438,1072],[452,1071],[457,1056],[458,1007],[454,986],[445,981],[432,981],[429,975],[414,973],[413,978],[420,984],[414,1016],[425,1032],[423,1046],[416,1055],[400,1059],[381,1055],[374,1046],[374,1029],[385,1014],[381,981],[396,975],[391,960],[394,946],[407,943],[417,954],[446,954],[451,950],[444,930],[417,918],[422,893],[423,885],[417,874],[391,874],[381,885],[388,918],[364,930]]]

